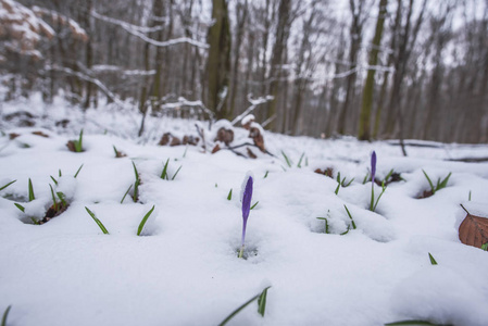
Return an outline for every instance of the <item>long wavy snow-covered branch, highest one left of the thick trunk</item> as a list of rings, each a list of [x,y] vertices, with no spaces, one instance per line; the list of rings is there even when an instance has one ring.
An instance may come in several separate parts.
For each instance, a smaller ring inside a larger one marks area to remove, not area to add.
[[[188,45],[191,45],[191,46],[195,46],[198,48],[202,48],[202,49],[209,48],[209,45],[200,42],[200,41],[195,40],[189,37],[179,37],[179,38],[174,38],[174,39],[170,39],[166,41],[159,41],[159,40],[155,40],[155,39],[152,39],[152,38],[146,36],[142,32],[140,32],[140,28],[143,28],[143,27],[135,26],[135,25],[128,24],[127,22],[124,22],[124,21],[103,16],[103,15],[97,13],[95,10],[91,11],[91,15],[97,20],[117,25],[117,26],[124,28],[127,33],[129,33],[134,36],[137,36],[141,40],[143,40],[150,45],[153,45],[154,47],[163,48],[163,47],[170,47],[170,46],[179,45],[179,43],[188,43]]]

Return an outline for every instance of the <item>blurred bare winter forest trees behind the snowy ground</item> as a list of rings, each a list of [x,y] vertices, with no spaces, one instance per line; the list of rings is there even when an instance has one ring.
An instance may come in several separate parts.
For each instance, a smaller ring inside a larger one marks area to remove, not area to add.
[[[488,140],[487,0],[0,0],[3,101]]]

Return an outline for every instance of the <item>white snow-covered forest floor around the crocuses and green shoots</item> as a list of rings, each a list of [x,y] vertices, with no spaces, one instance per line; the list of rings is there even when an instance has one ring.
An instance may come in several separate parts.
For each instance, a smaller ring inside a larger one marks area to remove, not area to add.
[[[37,124],[20,128],[5,121],[18,110],[35,114]],[[129,111],[83,115],[63,102],[43,106],[34,99],[2,103],[1,114],[0,187],[16,180],[0,191],[0,314],[12,305],[7,325],[217,325],[267,286],[264,317],[253,302],[227,325],[488,325],[487,252],[458,238],[466,215],[461,203],[488,216],[488,164],[449,161],[488,156],[488,146],[408,147],[403,158],[389,142],[266,133],[275,156],[252,160],[157,146],[165,131],[195,134],[193,121],[149,117],[145,136],[136,138],[140,117]],[[67,128],[55,126],[62,118],[71,121]],[[68,151],[66,142],[82,128],[85,151]],[[49,137],[32,134],[38,130]],[[20,136],[11,140],[12,133]],[[237,140],[247,135],[235,133]],[[127,156],[115,158],[113,146]],[[387,187],[376,212],[368,210],[372,184],[362,183],[373,150],[378,179],[391,168],[404,179]],[[160,178],[167,159],[170,176],[182,166],[174,180]],[[135,183],[133,163],[139,201],[133,187],[121,203]],[[337,181],[314,173],[327,167],[354,180],[336,195]],[[416,199],[429,188],[422,170],[434,181],[451,172],[448,187]],[[243,260],[237,258],[239,191],[249,171],[252,203],[259,203],[248,220]],[[52,204],[50,184],[70,206],[34,225],[30,217],[42,218]],[[329,234],[316,217],[327,218]]]

